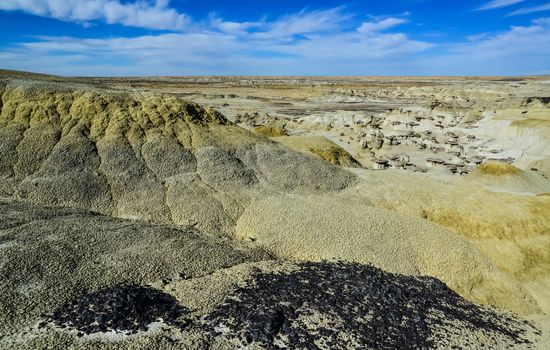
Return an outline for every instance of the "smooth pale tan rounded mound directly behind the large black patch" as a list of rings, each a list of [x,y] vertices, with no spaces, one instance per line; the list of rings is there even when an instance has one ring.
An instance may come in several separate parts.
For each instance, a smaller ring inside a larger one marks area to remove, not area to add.
[[[391,272],[437,277],[475,302],[523,314],[540,311],[525,288],[459,235],[345,196],[254,202],[239,218],[236,237],[284,258],[373,263]]]

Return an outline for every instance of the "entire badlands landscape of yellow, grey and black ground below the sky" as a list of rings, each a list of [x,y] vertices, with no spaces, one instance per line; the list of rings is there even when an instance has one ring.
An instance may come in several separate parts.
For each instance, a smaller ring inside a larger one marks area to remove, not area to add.
[[[550,348],[548,77],[0,96],[2,349]]]

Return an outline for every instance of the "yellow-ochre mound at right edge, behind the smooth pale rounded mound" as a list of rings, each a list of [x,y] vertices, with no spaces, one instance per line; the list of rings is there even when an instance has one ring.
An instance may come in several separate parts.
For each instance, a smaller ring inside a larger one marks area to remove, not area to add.
[[[459,234],[550,313],[548,194],[494,192],[467,178],[453,184],[397,171],[362,177],[345,191],[346,197],[427,219]]]

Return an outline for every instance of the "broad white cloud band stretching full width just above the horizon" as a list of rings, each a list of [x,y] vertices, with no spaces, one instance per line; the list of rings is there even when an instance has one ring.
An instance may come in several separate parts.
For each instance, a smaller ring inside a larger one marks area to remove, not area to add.
[[[212,18],[133,38],[34,37],[0,50],[3,68],[62,75],[514,75],[550,69],[550,18],[433,44],[386,18],[350,27],[341,9],[253,22]]]

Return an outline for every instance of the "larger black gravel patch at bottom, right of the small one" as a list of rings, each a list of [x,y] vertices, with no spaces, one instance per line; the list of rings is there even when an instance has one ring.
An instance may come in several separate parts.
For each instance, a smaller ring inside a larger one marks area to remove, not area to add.
[[[529,344],[528,330],[538,332],[509,313],[468,302],[435,278],[327,262],[302,263],[292,273],[256,270],[202,327],[267,349],[460,349],[449,346],[451,337],[479,344],[467,339],[471,331],[489,336],[484,348],[497,347],[497,338],[513,347]],[[464,330],[466,338],[458,333]]]

